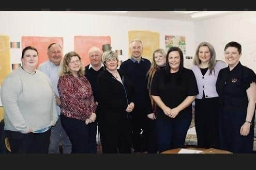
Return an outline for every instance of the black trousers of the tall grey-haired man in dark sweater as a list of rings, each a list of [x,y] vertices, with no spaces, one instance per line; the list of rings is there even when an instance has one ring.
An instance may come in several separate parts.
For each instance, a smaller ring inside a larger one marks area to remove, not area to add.
[[[145,108],[134,108],[132,111],[132,145],[134,152],[148,151],[148,117]],[[142,132],[142,134],[141,134]]]

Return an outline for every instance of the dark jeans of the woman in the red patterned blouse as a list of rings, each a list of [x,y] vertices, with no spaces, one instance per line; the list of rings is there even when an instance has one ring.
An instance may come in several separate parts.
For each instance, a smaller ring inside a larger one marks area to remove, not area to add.
[[[70,118],[61,114],[61,123],[72,144],[74,153],[96,153],[96,124]]]

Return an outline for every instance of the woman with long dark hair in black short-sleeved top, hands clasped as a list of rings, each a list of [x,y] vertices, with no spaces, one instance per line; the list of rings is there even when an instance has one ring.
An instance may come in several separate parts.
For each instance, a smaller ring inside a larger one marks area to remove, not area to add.
[[[156,72],[151,95],[157,104],[159,152],[184,147],[192,119],[191,103],[198,94],[191,70],[183,67],[183,53],[178,47],[168,50],[166,66]]]

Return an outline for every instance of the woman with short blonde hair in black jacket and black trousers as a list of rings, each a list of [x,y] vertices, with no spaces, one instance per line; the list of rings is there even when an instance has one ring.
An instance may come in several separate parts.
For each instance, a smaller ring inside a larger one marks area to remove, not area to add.
[[[102,54],[105,70],[99,75],[99,130],[103,153],[131,152],[133,87],[117,70],[118,57],[111,50]]]

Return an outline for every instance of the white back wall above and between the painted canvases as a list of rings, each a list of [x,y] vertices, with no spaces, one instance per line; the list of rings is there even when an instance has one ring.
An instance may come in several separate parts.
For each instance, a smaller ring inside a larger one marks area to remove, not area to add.
[[[128,31],[149,30],[159,32],[161,48],[164,48],[165,35],[185,36],[186,55],[194,54],[194,25],[188,21],[61,11],[0,11],[0,23],[0,34],[9,36],[14,42],[21,41],[22,36],[63,37],[64,53],[73,50],[74,36],[110,36],[112,49],[122,49],[124,58],[128,59]],[[11,62],[19,61],[20,54],[18,51],[11,56]]]

